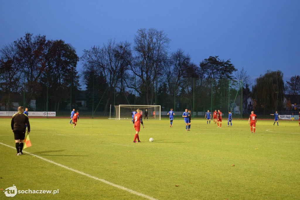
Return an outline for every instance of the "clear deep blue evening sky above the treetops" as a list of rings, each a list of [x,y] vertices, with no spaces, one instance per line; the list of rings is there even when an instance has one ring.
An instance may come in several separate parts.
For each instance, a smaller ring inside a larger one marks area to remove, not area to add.
[[[2,0],[0,46],[26,32],[83,49],[110,38],[133,44],[139,28],[163,30],[199,64],[209,56],[244,67],[251,82],[267,70],[300,75],[299,0]],[[81,71],[81,64],[78,65]]]

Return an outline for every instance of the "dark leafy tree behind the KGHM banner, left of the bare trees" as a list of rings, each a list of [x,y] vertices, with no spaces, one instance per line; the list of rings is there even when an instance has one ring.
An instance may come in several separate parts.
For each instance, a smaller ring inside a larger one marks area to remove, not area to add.
[[[48,101],[51,107],[48,109],[58,112],[62,103],[66,104],[70,99],[70,95],[66,95],[70,93],[70,87],[72,87],[72,96],[79,94],[80,83],[76,70],[79,57],[74,47],[63,40],[51,40],[48,43],[47,69],[42,75],[42,82],[49,87]]]

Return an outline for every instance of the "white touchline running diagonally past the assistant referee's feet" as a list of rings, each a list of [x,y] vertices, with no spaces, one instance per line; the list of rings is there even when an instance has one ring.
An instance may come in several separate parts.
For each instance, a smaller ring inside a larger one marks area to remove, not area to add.
[[[0,144],[1,144],[1,145],[4,145],[4,146],[7,146],[7,147],[10,147],[10,148],[12,148],[12,149],[16,149],[15,147],[9,146],[9,145],[4,144],[4,143],[0,143]],[[144,198],[146,198],[146,199],[151,199],[151,200],[158,200],[158,199],[155,199],[155,198],[153,198],[153,197],[151,197],[151,196],[148,196],[148,195],[145,195],[145,194],[142,194],[142,193],[138,193],[138,192],[136,192],[136,191],[134,191],[134,190],[128,189],[128,188],[126,188],[126,187],[123,187],[123,186],[120,186],[120,185],[117,185],[117,184],[113,184],[113,183],[111,183],[111,182],[109,182],[109,181],[106,181],[106,180],[104,180],[104,179],[97,178],[97,177],[95,177],[95,176],[86,174],[86,173],[84,173],[84,172],[80,172],[80,171],[78,171],[78,170],[76,170],[76,169],[73,169],[73,168],[64,166],[64,165],[59,164],[59,163],[55,163],[55,162],[53,162],[52,160],[48,160],[48,159],[43,158],[43,157],[41,157],[41,156],[38,156],[38,155],[35,155],[35,154],[32,154],[32,153],[29,153],[29,152],[27,152],[27,151],[24,151],[24,152],[25,152],[26,154],[29,154],[29,155],[35,156],[35,157],[37,157],[37,158],[40,158],[40,159],[42,159],[42,160],[45,160],[45,161],[47,161],[47,162],[49,162],[49,163],[55,164],[55,165],[57,165],[57,166],[60,166],[60,167],[62,167],[62,168],[64,168],[64,169],[68,169],[68,170],[70,170],[70,171],[72,171],[72,172],[76,172],[76,173],[78,173],[78,174],[87,176],[87,177],[92,178],[92,179],[95,179],[95,180],[97,180],[97,181],[101,181],[101,182],[103,182],[103,183],[109,184],[109,185],[111,185],[111,186],[113,186],[113,187],[117,187],[117,188],[119,188],[119,189],[121,189],[121,190],[125,190],[125,191],[130,192],[130,193],[132,193],[132,194],[135,194],[135,195],[137,195],[137,196],[142,196],[142,197],[144,197]]]

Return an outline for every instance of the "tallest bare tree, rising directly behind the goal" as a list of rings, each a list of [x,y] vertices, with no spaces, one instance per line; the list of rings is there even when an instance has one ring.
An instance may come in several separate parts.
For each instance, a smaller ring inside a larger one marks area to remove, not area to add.
[[[170,38],[164,31],[154,28],[139,29],[134,36],[134,63],[131,70],[139,77],[137,92],[146,104],[153,104],[155,96],[155,81],[162,75],[163,63],[167,58],[167,48]]]

